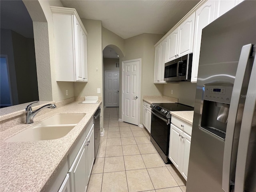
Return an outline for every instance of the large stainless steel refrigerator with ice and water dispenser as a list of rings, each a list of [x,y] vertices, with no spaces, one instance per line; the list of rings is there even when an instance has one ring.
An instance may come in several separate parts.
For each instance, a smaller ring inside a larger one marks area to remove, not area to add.
[[[256,1],[202,30],[187,192],[256,191]]]

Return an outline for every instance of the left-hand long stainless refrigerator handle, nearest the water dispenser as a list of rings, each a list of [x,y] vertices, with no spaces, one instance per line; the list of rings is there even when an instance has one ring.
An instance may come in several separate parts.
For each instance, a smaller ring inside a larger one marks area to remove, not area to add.
[[[234,137],[239,137],[240,133],[241,118],[239,116],[243,113],[245,102],[245,98],[241,97],[241,95],[246,95],[249,83],[248,76],[250,77],[252,71],[253,58],[250,58],[252,50],[252,44],[242,47],[230,101],[222,173],[222,189],[226,192],[230,191],[230,180],[231,183],[234,182],[234,168],[238,148],[238,139],[234,140]]]

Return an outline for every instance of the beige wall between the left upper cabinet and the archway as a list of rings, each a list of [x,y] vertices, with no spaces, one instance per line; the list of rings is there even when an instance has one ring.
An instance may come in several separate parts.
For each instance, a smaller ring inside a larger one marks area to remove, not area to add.
[[[102,34],[101,21],[81,19],[87,36],[88,82],[74,83],[75,96],[102,97]],[[101,93],[97,93],[100,88]]]

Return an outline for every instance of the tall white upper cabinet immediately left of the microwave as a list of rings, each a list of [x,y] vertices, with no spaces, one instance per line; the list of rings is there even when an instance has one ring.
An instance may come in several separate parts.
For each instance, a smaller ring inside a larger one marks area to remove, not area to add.
[[[164,64],[166,63],[167,40],[165,38],[155,48],[154,83],[166,83],[164,81]]]

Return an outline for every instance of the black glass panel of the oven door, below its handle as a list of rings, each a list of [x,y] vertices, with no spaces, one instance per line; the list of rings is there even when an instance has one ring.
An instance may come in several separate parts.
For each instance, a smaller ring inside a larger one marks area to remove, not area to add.
[[[154,138],[158,146],[162,149],[164,154],[168,156],[169,140],[170,140],[170,124],[152,114],[151,116],[151,136]]]

